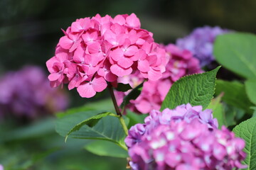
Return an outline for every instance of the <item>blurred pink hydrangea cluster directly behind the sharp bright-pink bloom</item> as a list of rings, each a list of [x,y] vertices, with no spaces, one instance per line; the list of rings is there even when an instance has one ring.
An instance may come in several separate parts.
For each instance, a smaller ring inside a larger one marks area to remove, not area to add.
[[[163,46],[166,50],[166,55],[169,55],[169,62],[166,64],[166,72],[158,81],[144,82],[142,93],[136,100],[131,100],[127,106],[129,110],[136,113],[149,113],[152,110],[159,110],[161,103],[164,101],[166,94],[171,88],[171,84],[183,76],[203,72],[199,66],[199,61],[193,57],[188,50],[181,50],[173,44]],[[118,81],[123,84],[129,84],[132,88],[136,87],[144,77],[137,74],[131,74],[127,77],[119,78]],[[128,92],[115,91],[117,104],[122,103],[122,98]]]

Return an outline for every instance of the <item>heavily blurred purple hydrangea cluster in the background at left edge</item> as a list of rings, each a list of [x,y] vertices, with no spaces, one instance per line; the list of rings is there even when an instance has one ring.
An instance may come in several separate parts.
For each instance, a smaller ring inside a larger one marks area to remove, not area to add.
[[[63,111],[67,106],[68,96],[59,89],[50,88],[41,67],[26,66],[0,78],[1,116],[12,113],[35,118],[39,114]]]

